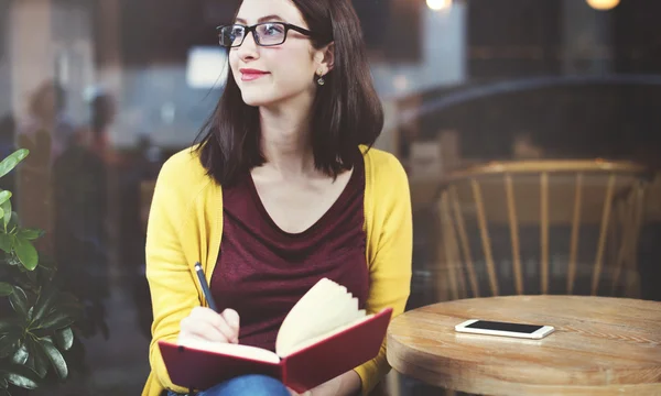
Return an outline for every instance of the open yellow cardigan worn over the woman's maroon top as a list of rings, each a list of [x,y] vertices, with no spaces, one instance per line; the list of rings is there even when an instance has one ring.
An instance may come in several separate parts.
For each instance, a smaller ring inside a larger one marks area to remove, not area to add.
[[[391,154],[365,147],[365,229],[370,288],[367,311],[392,307],[404,310],[410,294],[412,261],[411,199],[407,174]],[[158,348],[159,340],[176,342],[180,322],[196,306],[207,306],[197,286],[195,262],[214,273],[223,235],[223,193],[195,152],[186,148],[163,165],[147,231],[147,278],[153,306],[151,373],[142,396],[160,396],[173,385]],[[388,373],[386,341],[379,355],[355,369],[367,395]]]

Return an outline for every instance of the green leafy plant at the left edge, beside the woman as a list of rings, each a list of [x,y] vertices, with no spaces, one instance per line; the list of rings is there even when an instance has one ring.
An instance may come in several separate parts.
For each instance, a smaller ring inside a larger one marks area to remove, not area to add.
[[[0,178],[26,156],[21,148],[0,162]],[[21,395],[69,376],[83,305],[62,290],[57,268],[40,257],[42,230],[23,228],[0,190],[0,396]]]

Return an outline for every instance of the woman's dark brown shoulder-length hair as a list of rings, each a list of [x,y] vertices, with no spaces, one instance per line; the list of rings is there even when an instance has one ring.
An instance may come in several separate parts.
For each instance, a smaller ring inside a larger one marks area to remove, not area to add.
[[[336,177],[354,166],[359,145],[373,145],[383,128],[383,109],[372,85],[360,21],[350,0],[293,2],[308,29],[316,33],[310,38],[313,47],[335,44],[334,67],[324,76],[326,84],[318,87],[314,98],[311,133],[316,168]],[[259,109],[243,102],[231,73],[196,144],[207,174],[223,186],[266,162],[260,147]]]

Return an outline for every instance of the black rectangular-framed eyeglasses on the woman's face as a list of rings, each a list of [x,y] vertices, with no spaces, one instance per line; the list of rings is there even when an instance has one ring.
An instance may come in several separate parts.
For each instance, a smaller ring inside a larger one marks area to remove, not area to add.
[[[283,22],[264,22],[252,26],[234,24],[218,26],[216,30],[218,31],[218,41],[220,45],[225,47],[240,46],[243,44],[243,40],[246,40],[246,36],[250,32],[252,32],[254,43],[261,46],[272,46],[284,43],[286,40],[286,33],[290,30],[305,34],[306,36],[315,36],[315,34],[307,29]]]

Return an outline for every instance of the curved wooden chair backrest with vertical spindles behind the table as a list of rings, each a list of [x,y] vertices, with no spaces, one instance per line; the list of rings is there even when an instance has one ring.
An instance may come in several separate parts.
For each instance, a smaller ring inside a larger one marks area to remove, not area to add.
[[[602,160],[452,174],[437,202],[445,298],[635,295],[646,176],[638,164]]]

